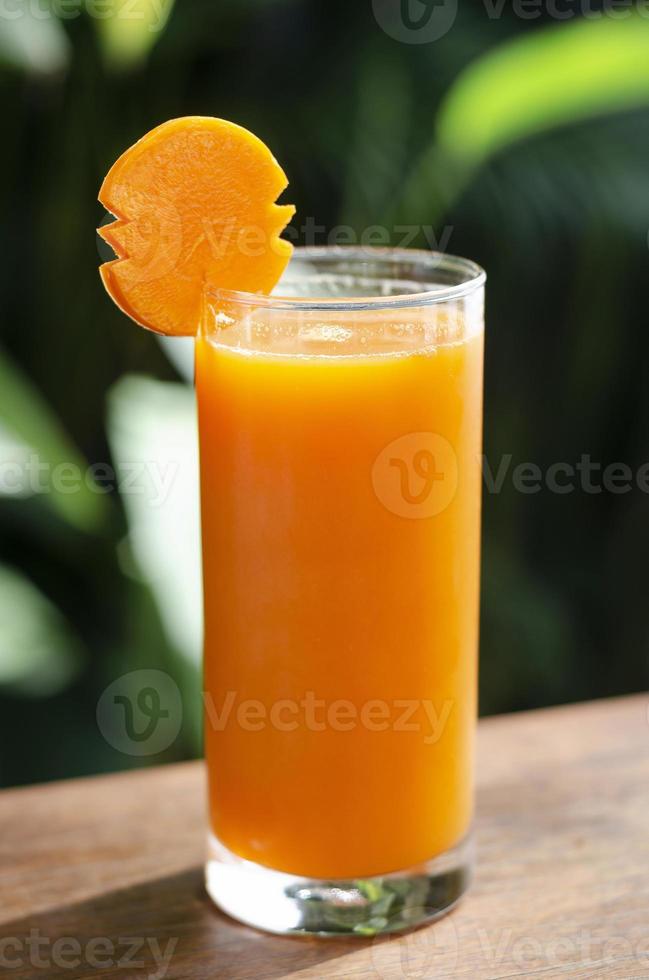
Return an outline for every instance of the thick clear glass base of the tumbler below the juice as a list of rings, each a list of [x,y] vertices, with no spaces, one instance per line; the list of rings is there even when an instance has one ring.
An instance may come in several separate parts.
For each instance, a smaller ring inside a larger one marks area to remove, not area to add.
[[[444,915],[467,890],[472,864],[469,835],[452,850],[405,871],[319,880],[245,861],[210,837],[205,883],[223,912],[266,932],[375,936]]]

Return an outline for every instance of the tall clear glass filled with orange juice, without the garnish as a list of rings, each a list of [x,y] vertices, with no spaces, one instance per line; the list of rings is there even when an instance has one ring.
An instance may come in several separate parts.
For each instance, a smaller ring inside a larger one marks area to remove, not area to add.
[[[484,281],[324,248],[208,291],[207,887],[260,928],[394,931],[467,886]]]

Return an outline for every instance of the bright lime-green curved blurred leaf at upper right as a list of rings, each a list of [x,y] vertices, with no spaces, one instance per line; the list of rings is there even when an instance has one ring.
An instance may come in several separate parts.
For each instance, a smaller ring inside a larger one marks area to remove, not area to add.
[[[551,128],[649,105],[649,20],[609,11],[516,37],[470,64],[443,101],[433,143],[404,183],[407,211],[431,194],[438,212],[475,169]]]

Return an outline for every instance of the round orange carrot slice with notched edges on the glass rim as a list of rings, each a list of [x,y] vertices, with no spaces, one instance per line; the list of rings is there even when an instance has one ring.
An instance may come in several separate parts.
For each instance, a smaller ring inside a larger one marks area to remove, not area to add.
[[[98,229],[117,258],[100,267],[124,313],[157,333],[197,332],[207,286],[270,293],[291,257],[276,204],[286,176],[268,147],[223,119],[187,116],[151,130],[113,164]]]

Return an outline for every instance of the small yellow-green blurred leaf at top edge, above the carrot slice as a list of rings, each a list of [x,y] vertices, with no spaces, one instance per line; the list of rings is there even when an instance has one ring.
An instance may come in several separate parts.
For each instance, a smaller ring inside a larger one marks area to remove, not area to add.
[[[174,0],[113,0],[110,16],[97,20],[108,64],[131,68],[142,62],[166,27]]]

